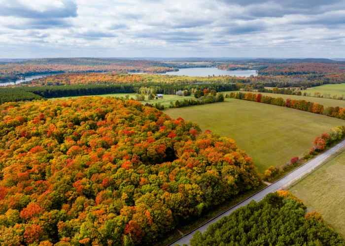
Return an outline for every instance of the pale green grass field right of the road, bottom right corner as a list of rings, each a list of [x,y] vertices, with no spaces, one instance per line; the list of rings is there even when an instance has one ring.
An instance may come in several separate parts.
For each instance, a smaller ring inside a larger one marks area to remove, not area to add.
[[[290,191],[345,237],[345,151],[292,186]]]

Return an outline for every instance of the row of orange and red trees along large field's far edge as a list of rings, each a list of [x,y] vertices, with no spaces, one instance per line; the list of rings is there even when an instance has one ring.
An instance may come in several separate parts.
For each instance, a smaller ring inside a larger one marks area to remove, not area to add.
[[[225,97],[248,100],[248,101],[256,101],[262,102],[267,104],[273,104],[277,106],[287,107],[287,108],[294,108],[299,109],[315,114],[325,114],[330,117],[338,118],[345,120],[345,108],[340,107],[329,107],[324,109],[322,104],[308,102],[306,100],[293,100],[287,98],[286,101],[281,97],[272,97],[272,96],[265,96],[261,93],[242,93],[242,92],[231,92],[230,94],[226,94]]]

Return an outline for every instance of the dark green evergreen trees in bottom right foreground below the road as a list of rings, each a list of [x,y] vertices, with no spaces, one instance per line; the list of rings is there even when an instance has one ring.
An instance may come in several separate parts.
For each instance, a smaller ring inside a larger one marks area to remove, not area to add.
[[[197,231],[190,246],[344,246],[345,240],[317,212],[288,191],[251,201],[231,215]]]

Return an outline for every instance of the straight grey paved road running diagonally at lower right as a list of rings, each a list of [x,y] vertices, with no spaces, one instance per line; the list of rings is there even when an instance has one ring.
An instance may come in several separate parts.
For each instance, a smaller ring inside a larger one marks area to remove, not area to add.
[[[261,191],[254,194],[253,196],[251,196],[251,197],[247,198],[246,200],[242,201],[241,203],[237,204],[236,206],[234,206],[233,208],[224,212],[223,214],[218,215],[218,216],[214,217],[213,219],[209,220],[204,225],[200,226],[199,228],[195,229],[194,231],[190,232],[189,234],[185,235],[181,239],[174,242],[171,246],[173,246],[175,244],[179,244],[179,245],[187,244],[187,245],[189,245],[189,241],[193,237],[194,232],[196,232],[196,231],[205,232],[207,227],[210,224],[213,224],[214,222],[218,221],[219,219],[221,219],[224,216],[230,215],[237,208],[240,208],[240,207],[247,205],[252,200],[255,200],[258,202],[261,199],[263,199],[267,194],[274,192],[276,190],[280,190],[283,187],[285,187],[286,185],[290,184],[293,180],[296,180],[296,179],[303,177],[305,174],[311,172],[311,170],[313,170],[315,167],[317,167],[318,165],[321,165],[326,158],[328,158],[330,155],[334,154],[335,152],[337,152],[339,149],[341,149],[344,146],[345,146],[345,140],[340,142],[336,146],[332,147],[328,151],[326,151],[326,152],[318,155],[317,157],[311,159],[310,161],[308,161],[303,166],[297,168],[293,172],[289,173],[288,175],[284,176],[283,178],[276,181],[275,183],[267,186],[266,188],[262,189]]]

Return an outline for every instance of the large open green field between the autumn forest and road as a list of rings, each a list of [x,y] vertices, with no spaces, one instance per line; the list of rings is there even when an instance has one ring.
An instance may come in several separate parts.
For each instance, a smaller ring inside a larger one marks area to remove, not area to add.
[[[253,158],[260,172],[304,154],[316,136],[345,125],[343,120],[324,115],[231,98],[164,112],[174,119],[196,122],[203,130],[233,138]]]

